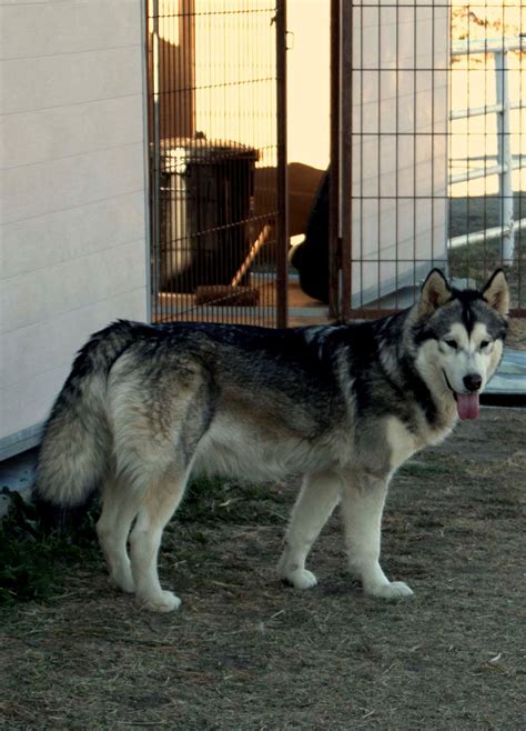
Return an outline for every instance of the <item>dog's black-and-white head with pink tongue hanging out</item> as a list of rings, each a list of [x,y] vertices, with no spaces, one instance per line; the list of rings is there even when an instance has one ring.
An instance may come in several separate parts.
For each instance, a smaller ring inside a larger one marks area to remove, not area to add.
[[[478,394],[503,356],[509,291],[502,269],[481,290],[456,290],[434,269],[415,308],[416,366],[436,392],[449,392],[461,419],[478,417]]]

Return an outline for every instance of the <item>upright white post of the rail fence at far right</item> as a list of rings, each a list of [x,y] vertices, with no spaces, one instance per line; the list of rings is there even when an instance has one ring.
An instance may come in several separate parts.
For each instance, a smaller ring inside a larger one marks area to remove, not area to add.
[[[510,137],[510,109],[509,109],[509,79],[508,79],[508,51],[503,48],[495,53],[495,73],[497,83],[497,104],[502,111],[497,112],[497,163],[502,166],[498,176],[498,193],[500,196],[500,227],[503,264],[513,264],[515,246],[514,212],[513,212],[513,159]]]

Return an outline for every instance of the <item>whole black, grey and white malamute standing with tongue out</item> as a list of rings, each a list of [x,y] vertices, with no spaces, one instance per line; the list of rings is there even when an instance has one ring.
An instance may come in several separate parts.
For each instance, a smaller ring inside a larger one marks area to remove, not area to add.
[[[364,591],[407,597],[380,565],[390,479],[458,417],[478,415],[508,304],[502,270],[481,291],[457,291],[435,269],[416,304],[370,322],[117,322],[82,348],[51,411],[37,499],[73,508],[100,489],[97,530],[111,578],[141,607],[168,612],[180,600],[159,583],[158,551],[190,474],[302,474],[280,577],[297,589],[316,583],[305,560],[341,502]]]

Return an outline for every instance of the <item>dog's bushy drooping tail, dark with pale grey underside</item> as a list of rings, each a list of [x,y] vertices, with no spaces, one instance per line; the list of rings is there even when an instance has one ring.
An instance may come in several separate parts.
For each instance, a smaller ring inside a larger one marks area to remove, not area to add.
[[[39,512],[63,517],[84,505],[108,472],[112,450],[105,398],[108,374],[132,341],[133,323],[119,321],[79,351],[44,427],[33,500]]]

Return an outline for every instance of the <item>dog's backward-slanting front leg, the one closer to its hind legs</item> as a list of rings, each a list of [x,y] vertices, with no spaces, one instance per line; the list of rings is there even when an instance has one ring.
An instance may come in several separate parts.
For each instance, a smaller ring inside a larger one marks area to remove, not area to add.
[[[312,544],[340,500],[342,480],[333,473],[305,475],[291,514],[285,549],[277,564],[282,579],[296,589],[310,589],[317,583],[305,561]]]

